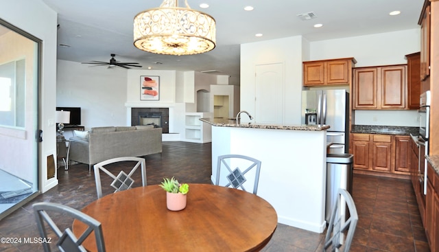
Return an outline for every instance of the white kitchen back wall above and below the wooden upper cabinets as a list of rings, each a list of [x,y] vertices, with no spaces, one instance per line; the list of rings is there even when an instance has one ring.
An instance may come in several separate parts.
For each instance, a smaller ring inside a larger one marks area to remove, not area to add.
[[[355,67],[407,64],[405,55],[420,51],[420,29],[311,42],[311,58],[354,57]],[[417,111],[355,111],[355,124],[419,126]]]

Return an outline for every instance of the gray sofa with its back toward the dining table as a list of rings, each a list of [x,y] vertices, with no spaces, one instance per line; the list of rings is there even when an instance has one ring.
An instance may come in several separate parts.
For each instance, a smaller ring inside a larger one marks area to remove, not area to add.
[[[110,126],[75,132],[69,160],[91,165],[115,157],[141,157],[162,152],[162,128]]]

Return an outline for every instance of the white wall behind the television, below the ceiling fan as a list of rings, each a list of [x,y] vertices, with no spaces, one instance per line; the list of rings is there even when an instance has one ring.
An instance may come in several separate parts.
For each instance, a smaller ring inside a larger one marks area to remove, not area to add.
[[[58,60],[56,106],[81,107],[81,125],[86,130],[126,126],[127,76],[126,69]]]

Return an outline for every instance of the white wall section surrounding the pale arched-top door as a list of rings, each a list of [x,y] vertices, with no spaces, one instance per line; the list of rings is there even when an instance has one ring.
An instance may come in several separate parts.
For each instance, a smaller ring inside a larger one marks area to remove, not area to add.
[[[282,63],[285,66],[284,124],[300,124],[302,91],[302,36],[241,45],[241,110],[255,114],[255,66]]]

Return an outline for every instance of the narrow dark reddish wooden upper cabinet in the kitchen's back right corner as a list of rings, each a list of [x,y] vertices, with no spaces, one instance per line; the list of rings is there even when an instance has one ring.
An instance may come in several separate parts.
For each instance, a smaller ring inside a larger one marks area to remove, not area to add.
[[[407,108],[419,109],[420,52],[408,54],[407,58]]]

